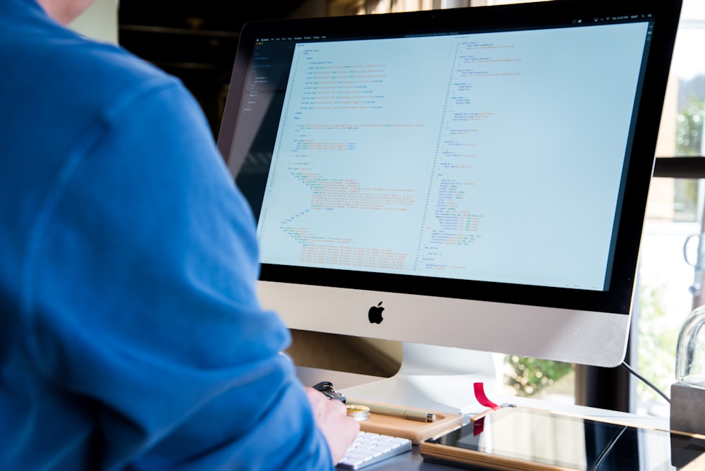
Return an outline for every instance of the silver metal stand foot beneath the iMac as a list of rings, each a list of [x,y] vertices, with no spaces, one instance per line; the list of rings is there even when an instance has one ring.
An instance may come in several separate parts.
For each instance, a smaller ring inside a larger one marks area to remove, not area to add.
[[[443,412],[479,412],[484,408],[475,399],[474,383],[484,383],[491,399],[501,371],[495,357],[489,352],[405,342],[397,374],[341,392],[349,403],[357,399]]]

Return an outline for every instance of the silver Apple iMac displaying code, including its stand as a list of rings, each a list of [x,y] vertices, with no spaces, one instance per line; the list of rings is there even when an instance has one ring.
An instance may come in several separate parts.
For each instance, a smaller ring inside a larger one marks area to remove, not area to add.
[[[447,395],[472,402],[479,352],[619,365],[679,14],[555,0],[245,25],[218,145],[257,220],[262,304],[403,342],[399,374],[355,398],[463,410]]]

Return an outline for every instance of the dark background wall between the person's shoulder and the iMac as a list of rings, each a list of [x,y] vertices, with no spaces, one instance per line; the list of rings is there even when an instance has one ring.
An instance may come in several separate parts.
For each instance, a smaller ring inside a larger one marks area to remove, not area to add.
[[[176,75],[217,136],[243,25],[287,18],[305,0],[121,0],[121,46]]]

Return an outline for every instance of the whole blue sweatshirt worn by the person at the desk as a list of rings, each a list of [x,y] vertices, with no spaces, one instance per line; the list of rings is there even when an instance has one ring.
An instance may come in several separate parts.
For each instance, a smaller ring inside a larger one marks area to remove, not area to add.
[[[0,179],[0,470],[331,468],[178,80],[0,0]]]

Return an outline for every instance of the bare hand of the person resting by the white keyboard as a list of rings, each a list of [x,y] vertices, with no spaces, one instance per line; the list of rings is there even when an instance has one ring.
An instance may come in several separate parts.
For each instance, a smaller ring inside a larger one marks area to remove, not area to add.
[[[312,405],[316,424],[328,441],[333,465],[336,465],[355,440],[360,424],[353,417],[348,417],[348,410],[340,400],[326,398],[320,391],[309,387],[306,388],[306,394]]]

